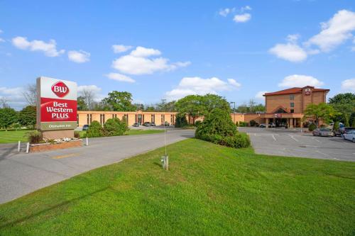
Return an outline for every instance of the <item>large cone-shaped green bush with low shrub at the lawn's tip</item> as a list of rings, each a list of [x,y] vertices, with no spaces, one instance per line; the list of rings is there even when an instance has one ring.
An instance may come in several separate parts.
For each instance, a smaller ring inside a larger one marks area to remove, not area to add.
[[[239,133],[227,111],[214,109],[197,127],[195,137],[227,147],[249,147],[249,136]]]

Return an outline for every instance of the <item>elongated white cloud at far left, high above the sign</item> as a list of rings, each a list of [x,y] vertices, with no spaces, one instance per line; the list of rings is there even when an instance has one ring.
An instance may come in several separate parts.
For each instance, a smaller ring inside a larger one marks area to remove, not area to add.
[[[44,52],[47,57],[58,57],[65,52],[65,50],[57,50],[55,40],[49,40],[48,43],[45,43],[42,40],[28,41],[25,37],[16,37],[12,39],[12,44],[21,50]]]

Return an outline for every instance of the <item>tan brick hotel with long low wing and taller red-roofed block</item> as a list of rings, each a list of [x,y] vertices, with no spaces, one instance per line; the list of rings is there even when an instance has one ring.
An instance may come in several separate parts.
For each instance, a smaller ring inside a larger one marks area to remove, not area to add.
[[[249,123],[255,120],[257,123],[275,123],[276,126],[301,127],[303,111],[310,103],[325,103],[329,89],[316,89],[313,86],[305,86],[303,88],[291,88],[272,93],[266,93],[265,106],[266,113],[260,114],[241,114],[231,113],[231,118],[236,121]],[[109,118],[126,118],[127,125],[133,123],[154,122],[161,125],[168,122],[175,124],[176,112],[148,112],[148,111],[78,111],[78,125],[89,125],[92,121],[97,120],[104,125]],[[202,120],[199,118],[196,120]],[[192,123],[192,118],[188,118]]]

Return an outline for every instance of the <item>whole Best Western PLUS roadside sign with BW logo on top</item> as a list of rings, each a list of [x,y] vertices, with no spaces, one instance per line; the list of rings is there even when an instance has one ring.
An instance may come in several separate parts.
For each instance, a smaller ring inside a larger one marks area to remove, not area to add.
[[[40,130],[77,128],[77,84],[61,79],[37,79],[37,127]]]

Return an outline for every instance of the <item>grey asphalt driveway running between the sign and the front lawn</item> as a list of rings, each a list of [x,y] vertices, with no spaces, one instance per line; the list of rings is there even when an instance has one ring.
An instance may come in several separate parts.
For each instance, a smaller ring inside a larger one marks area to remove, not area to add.
[[[166,141],[178,142],[194,133],[168,130]],[[89,146],[29,154],[18,153],[17,144],[0,145],[0,203],[163,146],[163,133],[92,138]]]

